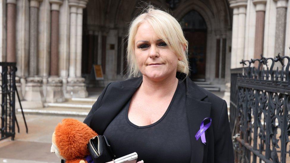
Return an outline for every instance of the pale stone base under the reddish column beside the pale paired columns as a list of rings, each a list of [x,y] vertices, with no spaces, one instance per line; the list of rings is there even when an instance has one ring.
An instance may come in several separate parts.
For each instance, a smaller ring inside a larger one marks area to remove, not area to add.
[[[46,102],[64,102],[62,91],[62,79],[60,77],[49,77],[46,89]]]

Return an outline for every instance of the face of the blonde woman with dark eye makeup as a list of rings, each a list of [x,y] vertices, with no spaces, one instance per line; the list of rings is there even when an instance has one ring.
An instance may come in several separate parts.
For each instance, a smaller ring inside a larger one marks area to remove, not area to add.
[[[135,35],[135,57],[140,72],[155,81],[175,77],[178,59],[181,60],[147,22],[139,26]]]

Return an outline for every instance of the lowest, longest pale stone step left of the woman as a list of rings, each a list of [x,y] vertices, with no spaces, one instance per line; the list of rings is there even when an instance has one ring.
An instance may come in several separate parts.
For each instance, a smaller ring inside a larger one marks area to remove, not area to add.
[[[86,117],[90,109],[76,109],[76,108],[56,108],[56,107],[43,107],[23,109],[24,114],[37,114],[37,115],[60,115],[60,116],[78,116]],[[17,109],[17,113],[21,113],[21,109]]]

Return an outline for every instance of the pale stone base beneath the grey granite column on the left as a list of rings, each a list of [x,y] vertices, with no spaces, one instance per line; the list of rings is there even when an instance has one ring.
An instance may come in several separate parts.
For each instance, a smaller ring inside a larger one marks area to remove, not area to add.
[[[42,92],[42,78],[41,77],[28,77],[25,86],[24,99],[26,101],[41,102],[43,107],[44,96]]]

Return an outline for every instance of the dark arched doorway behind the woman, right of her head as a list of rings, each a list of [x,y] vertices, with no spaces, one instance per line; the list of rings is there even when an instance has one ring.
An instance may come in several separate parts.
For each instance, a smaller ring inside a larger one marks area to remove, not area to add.
[[[205,79],[207,25],[204,18],[196,11],[191,10],[180,21],[185,38],[188,41],[188,59],[190,78],[192,80]]]

